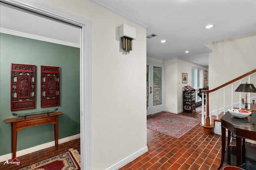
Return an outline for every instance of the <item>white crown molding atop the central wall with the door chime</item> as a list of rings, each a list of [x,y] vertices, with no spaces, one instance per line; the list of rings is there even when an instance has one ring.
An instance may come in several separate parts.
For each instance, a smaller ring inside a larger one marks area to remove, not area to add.
[[[138,24],[139,26],[142,26],[143,28],[147,29],[150,27],[148,24],[140,22],[139,20],[136,20],[135,18],[128,16],[124,12],[121,12],[120,10],[117,10],[116,8],[113,8],[113,7],[105,4],[104,2],[101,2],[99,0],[90,0],[90,1],[93,2],[94,4],[97,4],[98,6],[101,6],[102,8],[105,8],[107,10],[110,10],[111,12],[114,12],[115,14],[117,14],[127,20],[130,20],[131,22],[134,22],[135,24]]]

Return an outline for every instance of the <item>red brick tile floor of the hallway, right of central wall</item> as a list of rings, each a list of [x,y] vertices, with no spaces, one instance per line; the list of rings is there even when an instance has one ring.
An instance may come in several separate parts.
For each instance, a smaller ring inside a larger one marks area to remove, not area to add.
[[[201,112],[200,106],[180,115],[200,118]],[[120,170],[217,170],[220,165],[221,135],[202,134],[200,124],[179,139],[150,129],[147,136],[148,152]]]

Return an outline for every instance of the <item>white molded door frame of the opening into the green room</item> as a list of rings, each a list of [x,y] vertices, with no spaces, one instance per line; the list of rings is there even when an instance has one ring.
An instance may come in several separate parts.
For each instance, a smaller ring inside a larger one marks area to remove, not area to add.
[[[80,150],[81,169],[92,169],[92,112],[91,112],[91,51],[92,23],[90,20],[29,0],[0,0],[5,4],[35,12],[81,27],[80,36]]]

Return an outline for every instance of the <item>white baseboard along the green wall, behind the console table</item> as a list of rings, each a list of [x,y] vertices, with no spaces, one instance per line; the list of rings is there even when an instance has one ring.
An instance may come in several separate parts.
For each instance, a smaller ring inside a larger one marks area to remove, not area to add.
[[[66,138],[59,139],[58,143],[62,144],[62,143],[68,142],[70,140],[75,140],[75,139],[78,139],[78,138],[80,138],[80,134],[75,134],[73,136],[68,136]],[[29,153],[32,153],[32,152],[36,152],[38,150],[42,150],[42,149],[49,148],[49,147],[52,147],[52,146],[55,146],[55,141],[40,144],[38,146],[34,146],[34,147],[23,149],[23,150],[18,150],[16,152],[16,157],[22,156],[22,155],[25,155],[25,154],[29,154]],[[9,160],[9,159],[12,159],[12,153],[0,156],[0,162],[6,161],[6,160]]]

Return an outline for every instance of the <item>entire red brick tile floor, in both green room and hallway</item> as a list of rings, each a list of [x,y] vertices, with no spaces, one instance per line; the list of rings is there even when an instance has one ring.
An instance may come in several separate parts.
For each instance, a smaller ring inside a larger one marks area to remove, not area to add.
[[[201,117],[201,108],[194,113],[180,113]],[[235,144],[235,140],[231,145]],[[250,143],[246,143],[250,144]],[[179,139],[147,129],[148,152],[126,164],[120,170],[217,170],[221,160],[221,136],[205,135],[197,125]],[[255,144],[252,144],[255,145]],[[0,170],[18,170],[74,148],[80,153],[80,139],[59,144],[30,154],[19,156],[20,166],[0,162]],[[226,166],[224,164],[222,167]]]

